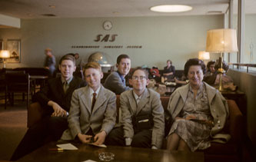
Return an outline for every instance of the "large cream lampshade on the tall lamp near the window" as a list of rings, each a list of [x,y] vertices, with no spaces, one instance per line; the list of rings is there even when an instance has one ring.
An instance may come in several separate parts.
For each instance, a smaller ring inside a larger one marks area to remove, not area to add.
[[[237,52],[235,29],[221,28],[207,31],[206,50],[209,52]]]

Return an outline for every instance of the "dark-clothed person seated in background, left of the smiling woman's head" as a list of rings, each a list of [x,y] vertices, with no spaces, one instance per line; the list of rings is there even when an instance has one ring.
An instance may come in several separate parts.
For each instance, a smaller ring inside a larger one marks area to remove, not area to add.
[[[175,78],[175,66],[172,65],[172,61],[168,60],[167,61],[167,66],[164,68],[162,77],[161,77],[161,82],[165,81],[173,81]]]

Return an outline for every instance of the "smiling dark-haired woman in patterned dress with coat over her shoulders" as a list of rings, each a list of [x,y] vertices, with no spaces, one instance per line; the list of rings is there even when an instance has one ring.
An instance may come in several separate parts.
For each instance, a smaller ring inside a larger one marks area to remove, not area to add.
[[[228,103],[221,93],[205,83],[204,62],[191,58],[185,64],[189,84],[171,94],[168,113],[173,124],[167,137],[168,150],[204,150],[211,140],[228,134],[218,134],[228,118]]]

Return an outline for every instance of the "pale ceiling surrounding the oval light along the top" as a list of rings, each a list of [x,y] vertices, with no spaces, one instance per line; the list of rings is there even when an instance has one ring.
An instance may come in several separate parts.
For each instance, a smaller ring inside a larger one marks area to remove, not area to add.
[[[228,10],[229,0],[0,0],[0,14],[15,18],[88,18],[166,15],[216,15]],[[191,5],[189,12],[151,12],[154,5]],[[238,0],[234,0],[234,13]],[[54,5],[55,7],[50,7]],[[246,13],[256,13],[256,1],[246,0]]]

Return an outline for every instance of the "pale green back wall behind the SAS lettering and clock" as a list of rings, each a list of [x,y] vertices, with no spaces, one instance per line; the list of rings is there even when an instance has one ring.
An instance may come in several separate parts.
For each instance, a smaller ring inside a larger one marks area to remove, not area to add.
[[[57,60],[62,55],[78,52],[87,61],[88,55],[103,51],[113,60],[122,53],[131,57],[132,67],[147,64],[163,68],[171,59],[176,69],[183,69],[188,58],[198,57],[204,50],[206,31],[223,26],[223,15],[135,17],[135,18],[48,18],[22,19],[20,29],[0,29],[0,39],[19,38],[20,64],[7,68],[42,67],[45,48],[52,48]],[[102,23],[110,20],[113,28],[105,31]],[[95,42],[96,35],[118,35],[114,42]],[[101,48],[71,48],[72,45],[99,45]],[[123,48],[103,48],[123,45]],[[126,48],[141,45],[142,48]],[[218,56],[217,56],[218,57]],[[2,64],[1,64],[2,66]]]

